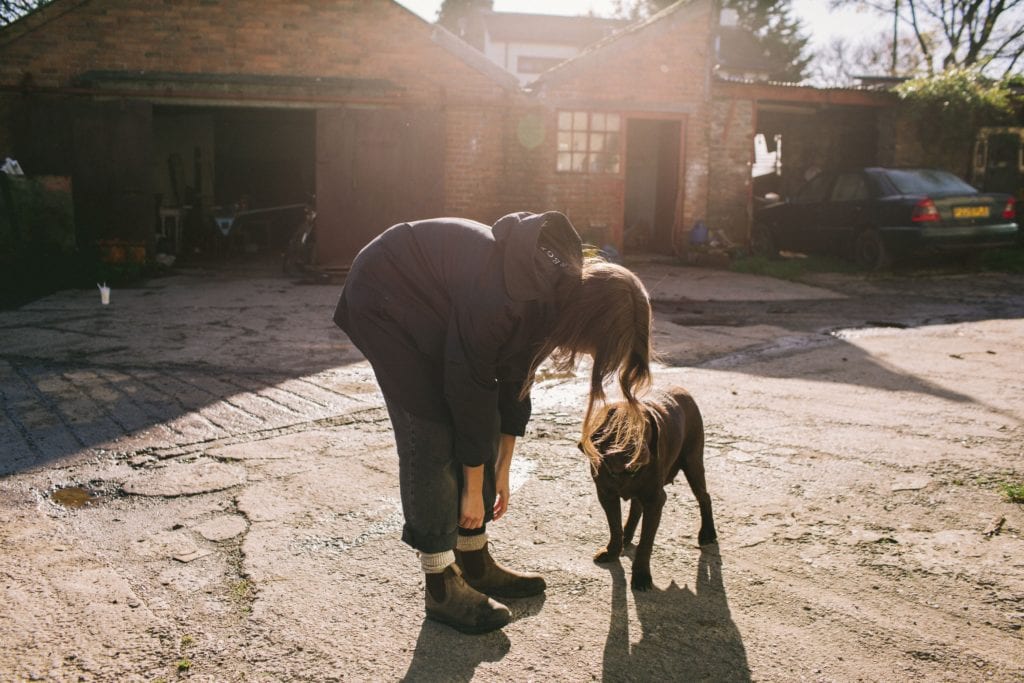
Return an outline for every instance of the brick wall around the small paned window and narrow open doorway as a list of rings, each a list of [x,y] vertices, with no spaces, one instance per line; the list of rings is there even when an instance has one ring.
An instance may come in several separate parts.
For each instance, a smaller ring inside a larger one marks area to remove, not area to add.
[[[555,172],[559,109],[616,112],[624,127],[631,115],[649,118],[660,112],[666,119],[684,118],[677,233],[706,217],[712,4],[696,0],[542,78],[540,98],[550,108],[541,171],[545,197],[551,208],[568,214],[581,232],[605,230],[610,242],[622,246],[625,176]],[[625,168],[625,155],[623,159]]]

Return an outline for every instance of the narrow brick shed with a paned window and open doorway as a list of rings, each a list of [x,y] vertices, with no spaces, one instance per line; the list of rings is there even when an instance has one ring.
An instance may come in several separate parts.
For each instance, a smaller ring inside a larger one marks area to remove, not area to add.
[[[672,253],[707,217],[715,4],[681,0],[534,83],[545,199],[586,239]]]

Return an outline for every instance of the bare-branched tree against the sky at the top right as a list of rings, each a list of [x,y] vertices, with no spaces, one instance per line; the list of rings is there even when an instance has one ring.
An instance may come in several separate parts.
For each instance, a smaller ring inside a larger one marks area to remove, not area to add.
[[[978,67],[996,76],[1024,55],[1024,0],[830,0],[894,17],[908,27],[929,74]]]

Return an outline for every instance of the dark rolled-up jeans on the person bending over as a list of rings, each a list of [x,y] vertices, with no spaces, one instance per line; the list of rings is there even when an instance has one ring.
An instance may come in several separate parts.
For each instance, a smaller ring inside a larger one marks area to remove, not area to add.
[[[412,415],[385,394],[398,450],[398,484],[406,517],[401,540],[423,553],[453,550],[459,533],[474,536],[484,527],[459,528],[462,465],[455,459],[455,429],[451,423]],[[499,435],[490,459],[483,465],[484,524],[494,516],[495,461]]]

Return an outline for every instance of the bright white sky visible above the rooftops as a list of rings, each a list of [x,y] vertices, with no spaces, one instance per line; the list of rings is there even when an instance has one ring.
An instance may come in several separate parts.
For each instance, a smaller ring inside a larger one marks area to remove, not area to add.
[[[428,22],[437,18],[441,0],[397,0]],[[595,14],[610,16],[612,0],[495,0],[495,10],[500,12],[528,12],[537,14]],[[887,31],[889,22],[868,12],[853,9],[828,9],[827,0],[793,0],[794,15],[803,22],[804,30],[811,37],[812,49],[826,45],[834,37],[856,39],[868,32]]]

